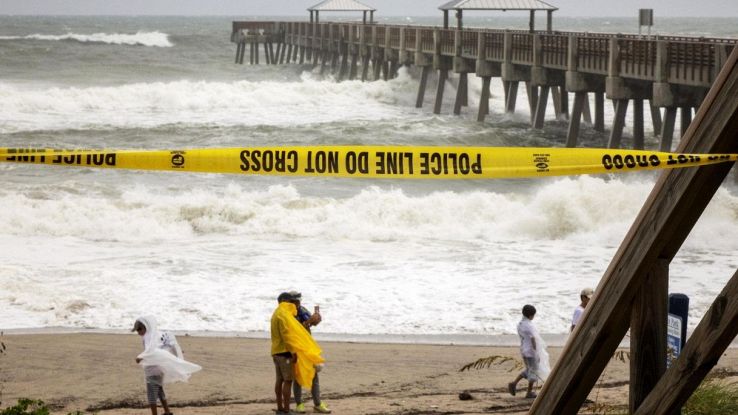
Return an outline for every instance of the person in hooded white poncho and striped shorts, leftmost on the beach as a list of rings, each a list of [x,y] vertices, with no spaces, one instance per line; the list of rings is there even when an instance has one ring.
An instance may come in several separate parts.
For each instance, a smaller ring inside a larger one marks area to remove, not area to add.
[[[183,359],[177,339],[171,333],[159,331],[154,317],[139,317],[132,331],[143,337],[144,351],[136,357],[136,363],[144,368],[146,396],[151,414],[157,415],[158,398],[164,415],[172,415],[164,393],[164,384],[187,382],[193,373],[202,368]]]

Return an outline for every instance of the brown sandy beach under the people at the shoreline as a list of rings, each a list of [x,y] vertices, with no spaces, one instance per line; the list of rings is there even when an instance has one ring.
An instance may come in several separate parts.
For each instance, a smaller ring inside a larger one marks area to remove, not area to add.
[[[166,388],[173,412],[271,414],[274,368],[265,339],[178,337],[188,360],[203,366],[188,384]],[[42,399],[54,413],[147,414],[143,373],[134,362],[135,334],[22,334],[3,336],[2,405]],[[531,401],[507,393],[516,374],[507,362],[459,372],[466,363],[499,355],[518,358],[516,347],[322,342],[324,401],[342,414],[523,414]],[[552,363],[560,347],[551,348]],[[736,367],[730,349],[718,367]],[[627,404],[628,363],[613,359],[592,391],[594,403]],[[731,372],[732,373],[732,372]],[[735,374],[733,374],[735,376]],[[523,388],[523,383],[519,388]],[[460,400],[468,391],[472,400]],[[306,405],[312,412],[312,404]]]

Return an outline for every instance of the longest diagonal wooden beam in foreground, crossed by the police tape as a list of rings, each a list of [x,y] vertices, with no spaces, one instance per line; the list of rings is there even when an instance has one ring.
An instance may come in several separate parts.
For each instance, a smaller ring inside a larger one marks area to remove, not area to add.
[[[677,151],[738,152],[736,96],[738,48],[723,66]],[[732,166],[732,163],[721,163],[661,174],[549,380],[533,402],[530,414],[577,413],[628,329],[629,314],[624,311],[629,309],[640,288],[641,276],[655,261],[671,261]],[[661,398],[654,394],[654,399]]]

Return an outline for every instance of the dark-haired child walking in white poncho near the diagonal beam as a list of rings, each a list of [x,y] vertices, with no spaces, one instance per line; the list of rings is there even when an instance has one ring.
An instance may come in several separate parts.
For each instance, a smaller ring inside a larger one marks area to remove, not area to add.
[[[507,387],[510,395],[515,396],[518,382],[523,379],[528,380],[528,392],[526,398],[535,398],[536,393],[533,388],[539,380],[545,382],[551,367],[548,362],[548,352],[546,352],[546,343],[538,334],[538,330],[533,325],[533,317],[536,315],[536,308],[530,304],[523,307],[523,319],[518,323],[518,336],[520,336],[520,354],[525,363],[525,369],[510,382]]]

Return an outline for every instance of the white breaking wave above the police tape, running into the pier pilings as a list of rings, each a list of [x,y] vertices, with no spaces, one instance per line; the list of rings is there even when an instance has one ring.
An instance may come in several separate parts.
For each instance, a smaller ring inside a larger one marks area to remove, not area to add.
[[[307,72],[294,82],[182,80],[44,88],[0,82],[0,133],[397,118],[411,107],[414,88],[409,75],[389,82],[337,83]]]

